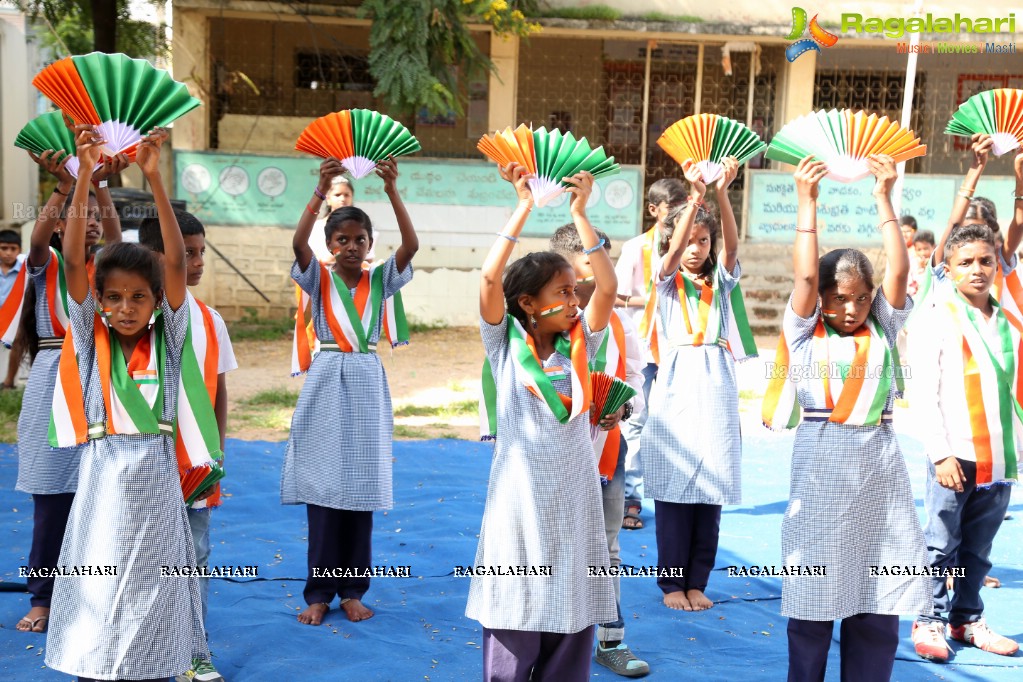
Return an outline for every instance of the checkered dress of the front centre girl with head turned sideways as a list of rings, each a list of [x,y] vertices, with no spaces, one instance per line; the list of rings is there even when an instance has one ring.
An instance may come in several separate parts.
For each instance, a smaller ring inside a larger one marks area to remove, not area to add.
[[[477,576],[465,616],[489,630],[574,634],[617,618],[610,577],[587,577],[588,566],[609,565],[601,480],[588,412],[561,423],[547,404],[517,376],[508,318],[480,321],[483,346],[496,384],[497,441],[475,566],[551,566],[550,576]],[[581,318],[591,361],[605,331]],[[544,369],[572,362],[554,352]],[[552,380],[571,397],[571,378]],[[587,634],[587,655],[592,635]]]

